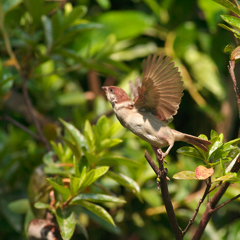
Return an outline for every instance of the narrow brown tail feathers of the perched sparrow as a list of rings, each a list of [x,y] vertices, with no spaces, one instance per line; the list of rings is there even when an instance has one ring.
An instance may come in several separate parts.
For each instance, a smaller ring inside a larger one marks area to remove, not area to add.
[[[184,136],[182,136],[182,134]],[[188,134],[184,134],[184,133],[180,133],[176,130],[174,130],[174,135],[175,135],[175,140],[176,141],[183,141],[183,142],[187,142],[190,143],[192,145],[195,145],[199,148],[201,148],[203,151],[208,151],[207,146],[211,144],[211,142],[192,136],[192,135],[188,135]]]

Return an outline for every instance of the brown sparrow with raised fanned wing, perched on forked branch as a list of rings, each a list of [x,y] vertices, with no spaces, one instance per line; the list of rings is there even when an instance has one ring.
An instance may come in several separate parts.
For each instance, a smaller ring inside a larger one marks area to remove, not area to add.
[[[168,127],[177,114],[183,96],[183,82],[170,57],[159,58],[149,55],[143,60],[142,83],[136,80],[131,85],[133,101],[128,94],[116,86],[104,86],[107,99],[111,103],[117,119],[123,127],[151,144],[154,153],[164,159],[175,141],[183,141],[207,151],[211,142],[181,133]],[[163,153],[161,149],[168,147]]]

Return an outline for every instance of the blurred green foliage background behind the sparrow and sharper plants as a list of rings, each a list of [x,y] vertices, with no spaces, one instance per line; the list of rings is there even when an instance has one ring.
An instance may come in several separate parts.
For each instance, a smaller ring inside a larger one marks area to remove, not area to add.
[[[227,141],[238,136],[238,117],[227,69],[229,55],[223,49],[227,44],[235,47],[236,42],[231,33],[217,26],[222,22],[221,14],[228,11],[210,0],[2,0],[0,239],[26,239],[26,225],[31,218],[26,210],[29,206],[16,213],[8,204],[30,198],[29,191],[37,188],[30,186],[30,178],[36,177],[36,169],[43,166],[43,155],[47,152],[46,144],[32,134],[37,129],[24,101],[23,77],[16,69],[16,61],[9,56],[9,49],[27,79],[33,114],[48,141],[61,139],[63,128],[59,118],[80,131],[86,120],[96,124],[103,115],[109,117],[110,125],[115,123],[101,86],[117,85],[129,92],[129,80],[141,75],[142,60],[148,54],[162,51],[179,67],[185,86],[180,109],[170,126],[196,136],[209,136],[214,129],[223,133]],[[236,67],[236,78],[239,77]],[[114,136],[122,142],[106,151],[139,161],[142,167],[118,164],[112,169],[139,184],[143,202],[113,181],[100,179],[100,183],[127,203],[104,205],[117,228],[82,212],[80,219],[89,239],[173,239],[156,176],[144,158],[144,149],[153,154],[150,145],[120,124],[116,126]],[[193,171],[200,164],[176,153],[184,145],[176,143],[166,159],[170,163],[167,165],[170,178],[181,170]],[[182,228],[191,218],[203,186],[200,181],[169,183]],[[238,191],[239,187],[233,185],[222,201]],[[239,200],[216,212],[203,239],[238,239],[237,209]],[[201,207],[200,214],[203,210]],[[191,239],[199,219],[198,216],[186,239]],[[85,237],[76,233],[72,239]]]

